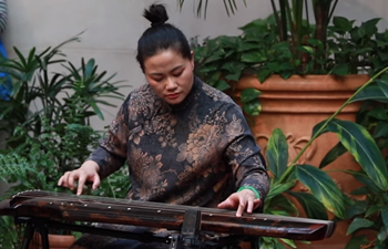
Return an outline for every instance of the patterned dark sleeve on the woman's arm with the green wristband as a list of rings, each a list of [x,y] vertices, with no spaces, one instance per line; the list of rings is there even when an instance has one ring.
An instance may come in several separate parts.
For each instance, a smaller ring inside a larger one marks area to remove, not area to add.
[[[261,194],[261,199],[264,200],[269,190],[269,177],[261,148],[239,106],[229,107],[226,118],[228,145],[225,156],[234,173],[235,190],[243,186],[254,187]]]

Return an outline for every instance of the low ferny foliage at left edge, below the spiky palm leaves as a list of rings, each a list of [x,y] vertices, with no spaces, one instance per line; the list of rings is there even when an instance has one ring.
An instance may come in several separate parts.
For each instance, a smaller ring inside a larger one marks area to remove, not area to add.
[[[90,126],[78,124],[67,126],[62,137],[52,131],[39,137],[28,137],[23,129],[19,129],[16,136],[24,137],[23,144],[10,153],[0,154],[0,179],[17,184],[6,196],[28,189],[61,191],[57,186],[58,177],[79,167],[100,138]]]

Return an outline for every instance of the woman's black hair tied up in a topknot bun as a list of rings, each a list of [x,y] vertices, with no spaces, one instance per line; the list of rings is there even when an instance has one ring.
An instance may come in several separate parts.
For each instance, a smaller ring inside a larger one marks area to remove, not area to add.
[[[173,49],[185,59],[192,59],[188,41],[176,27],[166,23],[167,12],[163,4],[152,4],[144,10],[143,17],[151,22],[137,41],[136,60],[144,72],[144,61],[161,51]]]

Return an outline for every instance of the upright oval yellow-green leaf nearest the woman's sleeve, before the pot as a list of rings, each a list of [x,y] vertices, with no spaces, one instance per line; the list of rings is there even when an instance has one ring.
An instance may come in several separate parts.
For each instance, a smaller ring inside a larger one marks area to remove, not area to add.
[[[288,144],[287,138],[279,128],[275,128],[267,144],[268,169],[274,174],[275,179],[282,177],[287,168]]]

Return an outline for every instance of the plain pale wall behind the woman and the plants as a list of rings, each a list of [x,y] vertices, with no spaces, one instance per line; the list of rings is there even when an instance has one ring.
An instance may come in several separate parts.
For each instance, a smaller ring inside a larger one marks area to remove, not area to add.
[[[242,2],[241,0],[236,0]],[[12,54],[12,46],[22,52],[32,46],[45,49],[85,31],[82,42],[65,46],[64,53],[79,64],[82,56],[94,58],[100,69],[118,73],[116,80],[125,80],[129,85],[145,83],[135,61],[136,41],[150,23],[141,17],[142,10],[154,0],[8,0],[9,25],[2,39]],[[227,17],[222,0],[212,0],[207,19],[196,19],[193,0],[186,0],[183,12],[176,0],[161,0],[166,4],[171,22],[182,29],[187,38],[200,35],[239,33],[237,28],[256,18],[265,18],[272,12],[269,0],[247,0],[248,8],[238,4],[236,15]],[[336,14],[358,21],[385,17],[387,0],[340,0]],[[387,20],[380,28],[388,27]],[[125,89],[124,91],[130,91]],[[116,102],[115,104],[120,104]],[[95,126],[103,127],[114,116],[116,108],[105,111],[105,121],[95,120]]]

